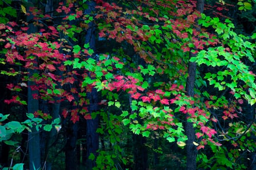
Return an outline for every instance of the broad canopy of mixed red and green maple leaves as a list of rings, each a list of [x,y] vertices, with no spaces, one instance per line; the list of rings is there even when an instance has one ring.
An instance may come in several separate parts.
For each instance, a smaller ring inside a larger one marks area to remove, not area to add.
[[[26,15],[34,16],[33,24],[39,30],[34,34],[27,34],[26,22],[22,26],[0,24],[4,47],[0,63],[8,66],[1,74],[17,78],[6,85],[13,94],[4,100],[6,104],[26,105],[20,94],[31,88],[39,91],[34,99],[73,106],[63,108],[60,114],[76,123],[96,115],[104,117],[104,112],[88,111],[87,95],[95,88],[100,94],[98,105],[117,110],[113,113],[117,118],[111,121],[116,126],[120,122],[128,125],[134,134],[149,137],[158,132],[183,148],[187,140],[184,122],[189,121],[194,123],[197,138],[193,143],[202,152],[200,156],[208,146],[213,153],[217,147],[228,152],[242,152],[239,147],[255,150],[255,142],[247,134],[255,135],[255,122],[243,119],[243,107],[256,102],[255,70],[249,67],[255,62],[255,34],[238,35],[230,19],[200,14],[194,0],[96,3],[95,13],[85,14],[81,1],[61,2],[55,15],[65,17],[58,22],[31,8]],[[57,24],[47,25],[45,20]],[[118,48],[102,52],[80,42],[79,35],[84,35],[92,22],[99,42],[115,42]],[[190,53],[197,54],[191,61],[200,66],[195,97],[187,96],[184,88]],[[28,86],[28,81],[36,85]],[[50,113],[39,110],[34,114],[50,119]],[[229,155],[228,161],[234,163],[228,164],[229,168],[240,166],[231,159],[234,155]],[[210,162],[216,163],[209,158]]]

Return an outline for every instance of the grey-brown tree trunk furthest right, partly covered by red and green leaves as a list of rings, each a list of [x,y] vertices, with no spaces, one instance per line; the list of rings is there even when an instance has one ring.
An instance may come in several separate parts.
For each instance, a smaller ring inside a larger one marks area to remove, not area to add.
[[[204,0],[197,0],[197,11],[200,13],[203,12],[204,9]],[[200,31],[200,27],[197,25],[196,27],[197,31]],[[193,54],[190,52],[190,58],[196,56],[196,54]],[[186,91],[187,95],[194,97],[194,87],[195,87],[195,81],[196,81],[196,69],[197,65],[194,62],[189,62],[188,64],[188,78],[186,82]],[[186,117],[190,117],[188,114]],[[193,144],[193,142],[196,140],[195,136],[195,129],[193,127],[193,122],[186,122],[185,125],[185,131],[186,135],[188,137],[187,140],[187,170],[196,170],[197,169],[197,148]]]

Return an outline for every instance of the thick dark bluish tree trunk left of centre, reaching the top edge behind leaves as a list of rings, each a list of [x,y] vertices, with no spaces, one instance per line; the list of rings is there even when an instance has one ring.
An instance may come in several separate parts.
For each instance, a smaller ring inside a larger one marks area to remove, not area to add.
[[[88,9],[85,10],[85,14],[91,14],[95,10],[96,3],[94,0],[90,0],[87,2]],[[85,35],[85,43],[90,44],[90,48],[95,51],[95,24],[94,22],[89,23],[89,28],[87,29],[86,35]],[[95,112],[98,110],[98,93],[95,88],[92,89],[90,93],[87,94],[88,99],[90,100],[90,106],[88,107],[88,110],[90,113]],[[99,136],[98,133],[96,133],[96,130],[98,128],[98,117],[91,120],[86,120],[86,145],[87,145],[87,161],[86,166],[88,170],[91,170],[93,167],[96,166],[95,160],[88,159],[88,156],[93,153],[95,156],[97,156],[97,150],[98,150],[98,140]]]

